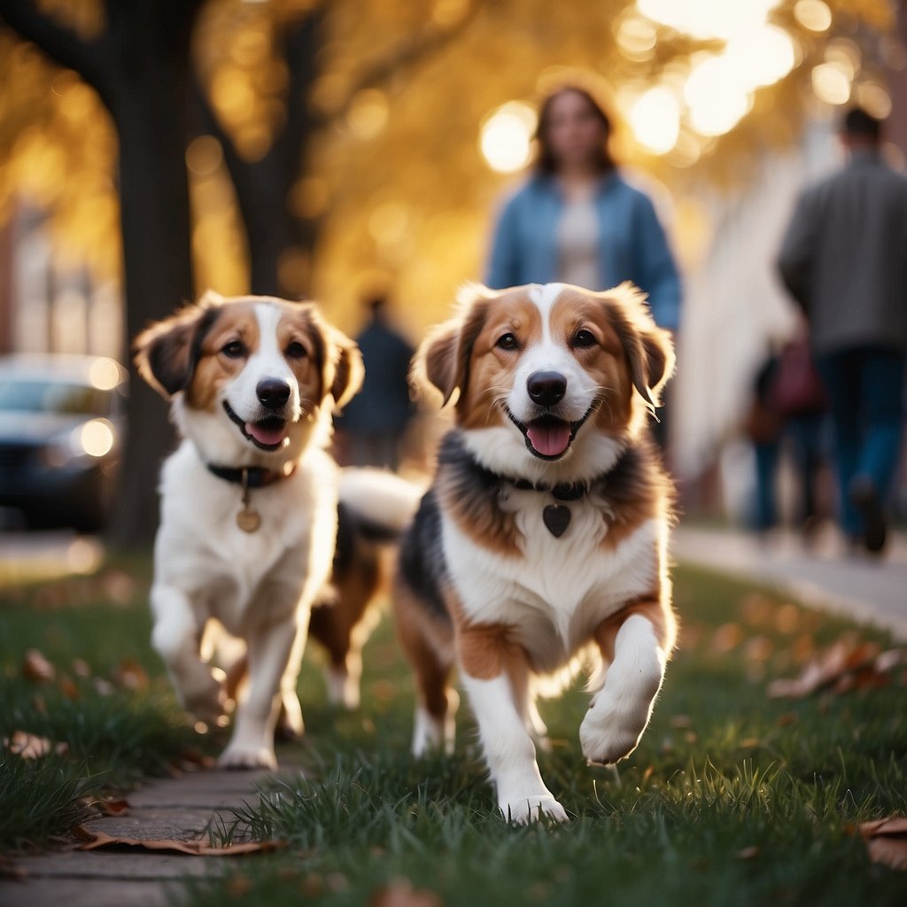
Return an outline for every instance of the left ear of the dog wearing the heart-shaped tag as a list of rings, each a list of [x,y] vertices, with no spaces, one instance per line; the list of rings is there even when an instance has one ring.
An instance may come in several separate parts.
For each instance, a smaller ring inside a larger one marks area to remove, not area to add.
[[[463,289],[458,297],[461,315],[435,327],[419,348],[413,364],[414,384],[429,384],[441,392],[447,405],[454,391],[463,394],[469,383],[469,361],[473,344],[485,321],[492,291],[477,284]]]

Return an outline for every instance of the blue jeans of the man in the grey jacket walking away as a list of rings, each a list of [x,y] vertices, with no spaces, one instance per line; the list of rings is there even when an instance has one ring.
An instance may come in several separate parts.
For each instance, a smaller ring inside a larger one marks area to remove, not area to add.
[[[834,425],[841,526],[851,538],[862,531],[850,500],[853,480],[870,480],[883,501],[892,491],[901,455],[905,365],[907,356],[876,346],[857,346],[816,359]]]

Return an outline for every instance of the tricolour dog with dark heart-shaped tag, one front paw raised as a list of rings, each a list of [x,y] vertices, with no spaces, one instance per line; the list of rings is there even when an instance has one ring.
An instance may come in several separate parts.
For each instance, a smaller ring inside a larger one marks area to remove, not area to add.
[[[396,581],[419,693],[413,749],[451,746],[455,664],[514,822],[567,818],[535,760],[535,698],[584,658],[590,763],[627,756],[649,723],[676,623],[673,493],[647,415],[673,366],[629,284],[472,288],[416,358],[422,384],[459,396]]]

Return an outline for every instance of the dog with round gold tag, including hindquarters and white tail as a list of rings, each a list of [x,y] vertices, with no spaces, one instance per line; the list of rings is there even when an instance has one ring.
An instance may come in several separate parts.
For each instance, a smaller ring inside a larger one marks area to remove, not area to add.
[[[303,729],[297,676],[310,613],[332,594],[332,561],[339,598],[318,626],[334,697],[356,704],[355,630],[377,571],[359,531],[400,532],[414,491],[390,475],[356,476],[336,551],[342,483],[326,448],[332,412],[359,389],[363,366],[312,304],[208,293],[142,332],[135,361],[182,436],[161,472],[153,645],[182,706],[223,725],[231,690],[209,663],[206,631],[214,623],[242,640],[248,684],[219,764],[276,766],[281,706],[284,729]],[[370,571],[356,578],[363,558]]]

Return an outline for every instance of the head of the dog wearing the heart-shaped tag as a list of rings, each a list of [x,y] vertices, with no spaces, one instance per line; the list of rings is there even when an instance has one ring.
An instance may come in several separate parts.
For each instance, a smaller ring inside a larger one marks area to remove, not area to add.
[[[445,403],[459,390],[457,424],[486,465],[563,463],[555,473],[572,474],[583,453],[605,468],[606,448],[639,433],[674,355],[629,284],[605,293],[547,284],[474,288],[420,360],[417,375]]]

